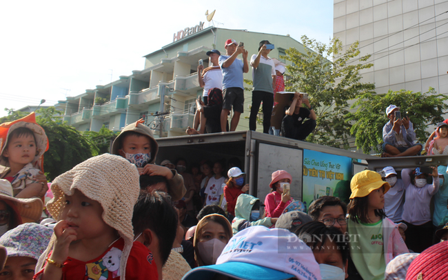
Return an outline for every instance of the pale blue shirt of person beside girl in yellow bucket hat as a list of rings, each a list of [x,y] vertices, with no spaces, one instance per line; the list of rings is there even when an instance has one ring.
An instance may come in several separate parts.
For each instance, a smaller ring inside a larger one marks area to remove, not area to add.
[[[384,194],[384,210],[389,219],[394,223],[403,221],[403,204],[405,204],[405,185],[398,179],[394,187]]]

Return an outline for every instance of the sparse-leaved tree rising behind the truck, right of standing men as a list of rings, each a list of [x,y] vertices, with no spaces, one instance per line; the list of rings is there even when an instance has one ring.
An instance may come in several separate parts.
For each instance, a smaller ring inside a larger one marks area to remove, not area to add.
[[[365,63],[370,55],[358,59],[358,42],[342,53],[342,43],[337,38],[328,45],[306,36],[301,41],[305,53],[289,48],[282,58],[292,62],[287,66],[290,77],[286,90],[307,92],[317,115],[316,129],[307,141],[347,149],[351,123],[344,116],[348,114],[349,101],[375,88],[373,83],[360,81],[360,70],[373,66]],[[351,62],[355,59],[358,63]]]

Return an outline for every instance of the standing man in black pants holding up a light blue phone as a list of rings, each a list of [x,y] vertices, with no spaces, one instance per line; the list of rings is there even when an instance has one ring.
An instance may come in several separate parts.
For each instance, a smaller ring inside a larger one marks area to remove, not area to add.
[[[258,54],[252,55],[252,79],[254,90],[252,91],[252,108],[250,109],[249,129],[256,130],[256,116],[261,102],[263,102],[263,133],[269,133],[271,127],[272,106],[274,106],[274,88],[276,72],[274,61],[267,56],[274,45],[267,40],[260,42]]]

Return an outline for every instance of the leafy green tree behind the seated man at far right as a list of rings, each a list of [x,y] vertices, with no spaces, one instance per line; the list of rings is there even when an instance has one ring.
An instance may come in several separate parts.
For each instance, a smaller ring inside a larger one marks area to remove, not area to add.
[[[366,92],[352,106],[358,110],[347,115],[347,119],[355,121],[350,132],[356,137],[356,146],[366,154],[372,149],[381,152],[383,126],[389,121],[385,110],[394,104],[400,107],[402,117],[409,116],[417,141],[425,143],[429,137],[427,126],[443,121],[442,114],[448,109],[447,100],[445,95],[436,94],[434,88],[425,93],[409,90],[389,90],[386,94]]]

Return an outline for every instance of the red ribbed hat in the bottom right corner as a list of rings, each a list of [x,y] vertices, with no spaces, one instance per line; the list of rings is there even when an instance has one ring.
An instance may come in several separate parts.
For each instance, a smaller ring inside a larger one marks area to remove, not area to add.
[[[448,241],[437,243],[423,251],[407,270],[406,280],[447,279]]]

